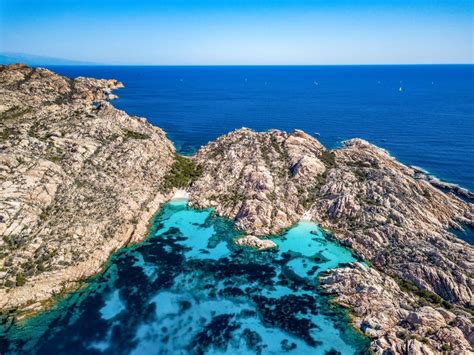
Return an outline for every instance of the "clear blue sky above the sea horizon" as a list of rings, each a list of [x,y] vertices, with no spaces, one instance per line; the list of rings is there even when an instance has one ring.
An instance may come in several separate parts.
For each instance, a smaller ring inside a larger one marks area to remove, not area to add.
[[[0,0],[0,51],[108,64],[472,63],[474,0]]]

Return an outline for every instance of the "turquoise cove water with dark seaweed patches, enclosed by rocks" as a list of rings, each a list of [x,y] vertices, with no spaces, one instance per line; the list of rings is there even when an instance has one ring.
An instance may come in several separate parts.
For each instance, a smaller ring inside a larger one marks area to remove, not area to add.
[[[103,273],[20,324],[3,319],[0,353],[364,353],[367,340],[330,303],[317,276],[356,261],[313,223],[272,237],[278,249],[238,247],[231,222],[165,205],[141,244]]]

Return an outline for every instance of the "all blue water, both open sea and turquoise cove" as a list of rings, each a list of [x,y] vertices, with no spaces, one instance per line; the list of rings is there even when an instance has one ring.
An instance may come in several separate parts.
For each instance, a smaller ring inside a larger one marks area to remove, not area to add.
[[[242,126],[303,129],[327,147],[362,137],[474,190],[474,66],[52,67],[116,78],[118,108],[163,128],[183,154]],[[453,231],[472,243],[467,234]],[[268,251],[213,211],[172,200],[148,238],[49,310],[0,315],[0,353],[366,354],[318,276],[359,261],[299,222]]]

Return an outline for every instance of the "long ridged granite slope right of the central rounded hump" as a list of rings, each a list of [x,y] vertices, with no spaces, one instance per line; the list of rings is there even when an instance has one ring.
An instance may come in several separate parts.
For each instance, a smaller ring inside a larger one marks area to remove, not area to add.
[[[472,307],[474,248],[447,230],[472,221],[474,205],[415,180],[412,169],[365,141],[335,154],[314,219],[381,270]]]

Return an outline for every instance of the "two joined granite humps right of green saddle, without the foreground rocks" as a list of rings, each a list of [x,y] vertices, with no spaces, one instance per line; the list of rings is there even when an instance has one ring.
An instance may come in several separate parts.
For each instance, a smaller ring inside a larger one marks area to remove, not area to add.
[[[361,139],[327,151],[301,131],[241,129],[199,150],[203,176],[191,202],[214,207],[254,235],[303,215],[390,275],[473,306],[474,248],[447,232],[471,223],[473,205],[413,177]]]

